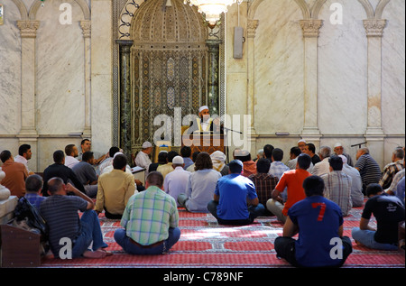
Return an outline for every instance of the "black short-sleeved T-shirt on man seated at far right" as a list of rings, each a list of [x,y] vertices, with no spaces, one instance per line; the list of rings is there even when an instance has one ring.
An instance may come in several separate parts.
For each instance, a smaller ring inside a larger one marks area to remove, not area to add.
[[[398,224],[404,220],[404,207],[401,200],[386,194],[369,198],[365,203],[362,217],[370,219],[372,214],[377,223],[375,241],[381,244],[396,244]]]

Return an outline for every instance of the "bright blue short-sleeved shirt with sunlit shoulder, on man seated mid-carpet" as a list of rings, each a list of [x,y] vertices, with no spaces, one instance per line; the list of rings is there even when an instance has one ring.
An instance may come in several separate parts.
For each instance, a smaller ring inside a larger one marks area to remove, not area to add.
[[[239,174],[229,174],[217,180],[215,194],[220,197],[217,216],[224,220],[247,219],[246,198],[257,198],[254,182]]]

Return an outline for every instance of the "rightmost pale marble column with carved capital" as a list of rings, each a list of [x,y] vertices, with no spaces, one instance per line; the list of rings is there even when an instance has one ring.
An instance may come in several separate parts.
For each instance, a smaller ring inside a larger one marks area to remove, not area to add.
[[[371,154],[383,167],[383,128],[382,128],[382,37],[386,20],[364,20],[364,28],[368,42],[368,112],[365,139]]]

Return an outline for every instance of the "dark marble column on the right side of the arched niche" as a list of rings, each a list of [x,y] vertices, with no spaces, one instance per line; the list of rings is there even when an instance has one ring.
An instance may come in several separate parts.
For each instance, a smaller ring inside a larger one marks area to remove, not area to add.
[[[208,45],[208,108],[210,115],[219,115],[218,60],[222,40],[207,40]]]

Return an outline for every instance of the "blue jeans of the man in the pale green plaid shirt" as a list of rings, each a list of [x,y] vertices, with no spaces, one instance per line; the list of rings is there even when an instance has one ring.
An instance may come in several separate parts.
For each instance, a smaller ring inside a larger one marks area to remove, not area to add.
[[[152,247],[142,247],[141,245],[134,244],[131,238],[125,233],[124,228],[118,228],[115,230],[115,242],[123,247],[127,254],[138,255],[156,255],[164,254],[168,252],[171,247],[180,239],[180,228],[170,227],[168,239],[164,240],[162,244]]]

